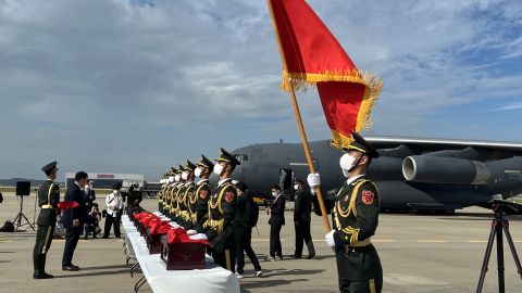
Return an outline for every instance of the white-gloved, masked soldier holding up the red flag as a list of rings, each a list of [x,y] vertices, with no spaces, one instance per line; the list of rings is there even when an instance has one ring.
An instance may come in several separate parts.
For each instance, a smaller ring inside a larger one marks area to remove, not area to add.
[[[370,240],[377,229],[381,204],[376,187],[365,178],[378,153],[359,133],[352,138],[339,161],[348,180],[336,191],[334,229],[325,239],[335,250],[340,292],[381,292],[383,269]],[[310,174],[308,183],[320,186],[319,174]]]

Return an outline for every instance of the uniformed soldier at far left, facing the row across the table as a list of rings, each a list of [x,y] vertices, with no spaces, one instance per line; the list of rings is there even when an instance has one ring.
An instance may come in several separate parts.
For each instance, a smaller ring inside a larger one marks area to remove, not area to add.
[[[41,170],[46,173],[47,180],[38,187],[38,205],[41,209],[36,221],[38,231],[36,232],[36,243],[33,251],[35,266],[33,279],[53,278],[46,272],[46,257],[54,235],[57,208],[60,201],[60,187],[54,183],[58,173],[57,162],[47,164]]]

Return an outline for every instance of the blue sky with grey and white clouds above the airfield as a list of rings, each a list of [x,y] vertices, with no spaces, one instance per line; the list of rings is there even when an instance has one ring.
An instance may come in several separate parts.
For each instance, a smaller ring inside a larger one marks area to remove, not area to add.
[[[264,1],[0,0],[0,178],[148,178],[297,142]],[[309,1],[384,81],[370,135],[522,141],[521,1]],[[327,139],[316,93],[299,94]]]

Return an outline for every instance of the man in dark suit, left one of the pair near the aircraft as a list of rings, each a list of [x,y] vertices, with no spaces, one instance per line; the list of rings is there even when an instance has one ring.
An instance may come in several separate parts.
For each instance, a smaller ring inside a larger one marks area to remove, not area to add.
[[[281,246],[281,228],[285,225],[285,198],[281,192],[279,186],[272,187],[272,196],[274,198],[270,206],[270,256],[266,260],[283,259]]]

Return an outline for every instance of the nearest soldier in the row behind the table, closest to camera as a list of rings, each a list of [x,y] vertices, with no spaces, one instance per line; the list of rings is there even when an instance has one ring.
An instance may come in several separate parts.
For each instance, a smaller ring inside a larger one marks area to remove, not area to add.
[[[214,166],[214,174],[220,177],[220,181],[214,189],[214,194],[209,200],[209,218],[202,230],[198,232],[204,232],[201,238],[209,240],[214,263],[234,271],[236,257],[233,222],[236,213],[237,191],[232,183],[231,176],[240,163],[224,149],[221,149],[221,155],[215,161],[217,163]]]

